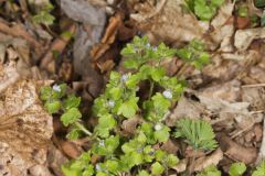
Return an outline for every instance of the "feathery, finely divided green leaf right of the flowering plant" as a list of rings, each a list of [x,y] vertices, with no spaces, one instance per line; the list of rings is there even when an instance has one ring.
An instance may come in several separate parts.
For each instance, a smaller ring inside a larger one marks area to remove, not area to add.
[[[184,138],[195,150],[214,150],[218,146],[210,123],[201,120],[181,119],[177,123],[176,138]]]

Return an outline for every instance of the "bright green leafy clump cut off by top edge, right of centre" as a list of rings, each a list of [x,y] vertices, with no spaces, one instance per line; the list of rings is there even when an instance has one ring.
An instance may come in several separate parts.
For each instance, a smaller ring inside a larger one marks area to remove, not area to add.
[[[224,0],[186,0],[188,8],[203,21],[209,21],[216,13]]]

